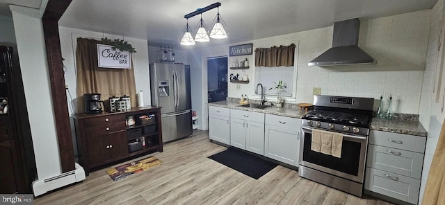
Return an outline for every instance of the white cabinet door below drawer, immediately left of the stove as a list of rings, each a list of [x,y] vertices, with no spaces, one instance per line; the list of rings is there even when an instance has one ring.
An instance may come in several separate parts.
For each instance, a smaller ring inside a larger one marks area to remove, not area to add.
[[[266,125],[264,156],[298,166],[300,130]]]

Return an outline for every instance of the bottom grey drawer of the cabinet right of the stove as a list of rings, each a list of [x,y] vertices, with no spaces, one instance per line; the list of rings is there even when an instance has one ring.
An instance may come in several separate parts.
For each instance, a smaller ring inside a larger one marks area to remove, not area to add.
[[[365,189],[387,195],[411,204],[419,199],[420,180],[396,175],[373,168],[366,168]]]

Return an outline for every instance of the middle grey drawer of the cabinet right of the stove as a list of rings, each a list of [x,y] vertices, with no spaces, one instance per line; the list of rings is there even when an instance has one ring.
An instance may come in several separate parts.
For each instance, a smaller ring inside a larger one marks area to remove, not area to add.
[[[421,179],[423,154],[379,145],[369,145],[367,166]]]

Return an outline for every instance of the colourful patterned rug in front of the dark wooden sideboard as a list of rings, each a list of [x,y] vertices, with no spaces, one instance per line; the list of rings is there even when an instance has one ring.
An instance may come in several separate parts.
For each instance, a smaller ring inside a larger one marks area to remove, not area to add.
[[[113,181],[118,181],[138,172],[142,172],[143,170],[148,170],[149,168],[158,166],[161,163],[162,161],[156,157],[148,157],[115,168],[109,168],[106,170],[106,173],[111,177],[111,179],[113,179]]]

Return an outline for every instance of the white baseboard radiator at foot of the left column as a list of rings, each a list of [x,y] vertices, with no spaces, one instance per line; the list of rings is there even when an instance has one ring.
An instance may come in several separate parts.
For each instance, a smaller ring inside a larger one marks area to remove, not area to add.
[[[76,163],[75,170],[65,172],[54,177],[49,177],[47,179],[38,179],[33,181],[33,193],[34,196],[37,197],[49,192],[50,190],[83,181],[83,179],[85,179],[85,170],[83,170],[83,168]]]

